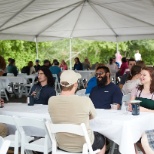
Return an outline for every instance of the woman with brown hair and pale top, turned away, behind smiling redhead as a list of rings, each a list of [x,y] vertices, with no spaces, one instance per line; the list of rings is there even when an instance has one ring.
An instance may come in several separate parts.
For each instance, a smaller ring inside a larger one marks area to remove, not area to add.
[[[126,83],[122,87],[122,93],[124,95],[131,93],[131,91],[136,88],[140,82],[140,72],[141,67],[134,65],[128,75]]]

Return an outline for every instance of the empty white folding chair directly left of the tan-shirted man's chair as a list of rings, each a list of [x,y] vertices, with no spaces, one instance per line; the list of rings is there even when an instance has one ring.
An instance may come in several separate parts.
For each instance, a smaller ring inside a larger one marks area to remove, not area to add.
[[[17,129],[21,134],[21,154],[24,154],[26,150],[43,152],[44,154],[48,154],[52,151],[51,141],[48,133],[46,132],[44,120],[24,117],[14,117],[14,119],[17,124]],[[24,128],[25,126],[43,129],[45,131],[45,136],[29,143],[26,139],[27,135]]]

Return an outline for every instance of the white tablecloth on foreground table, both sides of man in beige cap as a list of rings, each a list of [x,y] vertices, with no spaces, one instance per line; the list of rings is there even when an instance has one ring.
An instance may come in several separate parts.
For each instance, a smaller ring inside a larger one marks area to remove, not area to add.
[[[154,114],[141,113],[133,116],[124,111],[97,109],[97,117],[90,121],[92,130],[100,132],[119,145],[122,154],[135,154],[134,143],[136,143],[145,130],[154,129]],[[48,106],[27,106],[22,103],[8,103],[0,108],[0,114],[26,116],[39,119],[50,119]],[[11,129],[11,128],[10,128]],[[41,136],[39,130],[28,129],[27,133]]]

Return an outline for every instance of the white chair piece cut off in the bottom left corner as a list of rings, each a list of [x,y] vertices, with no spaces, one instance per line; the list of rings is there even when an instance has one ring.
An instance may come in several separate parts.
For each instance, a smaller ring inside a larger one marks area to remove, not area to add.
[[[5,140],[0,136],[0,153],[1,154],[7,154],[9,146],[10,146],[10,141]]]

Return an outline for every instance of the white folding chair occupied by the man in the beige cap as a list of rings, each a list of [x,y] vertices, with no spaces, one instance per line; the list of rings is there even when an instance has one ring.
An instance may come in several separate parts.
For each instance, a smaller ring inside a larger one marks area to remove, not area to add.
[[[85,144],[83,145],[82,154],[96,154],[100,151],[100,150],[93,151],[91,143],[90,143],[90,139],[88,136],[88,132],[87,132],[87,129],[84,123],[82,123],[81,125],[52,124],[50,121],[46,121],[45,124],[48,130],[50,139],[52,141],[52,154],[79,154],[79,153],[65,152],[65,151],[57,149],[55,134],[62,133],[62,132],[84,136]]]

